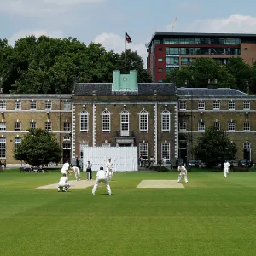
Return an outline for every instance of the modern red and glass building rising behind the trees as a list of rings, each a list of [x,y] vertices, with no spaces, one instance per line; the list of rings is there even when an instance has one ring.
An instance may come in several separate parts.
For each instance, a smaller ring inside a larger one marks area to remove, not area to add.
[[[256,35],[156,32],[148,44],[147,69],[153,82],[162,82],[173,68],[190,65],[199,57],[226,64],[241,57],[249,65],[256,61]]]

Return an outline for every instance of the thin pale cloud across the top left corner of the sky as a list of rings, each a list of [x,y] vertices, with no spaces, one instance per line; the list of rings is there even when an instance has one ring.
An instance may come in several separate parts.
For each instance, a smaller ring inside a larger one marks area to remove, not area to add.
[[[0,0],[0,12],[37,17],[67,11],[70,6],[105,0]]]

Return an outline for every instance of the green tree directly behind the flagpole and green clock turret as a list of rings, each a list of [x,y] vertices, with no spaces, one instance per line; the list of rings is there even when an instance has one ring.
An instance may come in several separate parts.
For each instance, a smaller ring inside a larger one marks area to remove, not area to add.
[[[131,49],[126,50],[126,73],[130,70],[137,70],[137,82],[138,83],[151,83],[152,79],[150,74],[144,68],[143,58],[137,54],[136,51]],[[119,55],[119,60],[116,64],[116,69],[121,73],[125,73],[125,52]]]

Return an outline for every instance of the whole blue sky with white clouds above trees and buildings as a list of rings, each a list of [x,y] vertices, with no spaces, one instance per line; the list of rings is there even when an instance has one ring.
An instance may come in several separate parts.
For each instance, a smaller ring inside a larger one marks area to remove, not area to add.
[[[255,0],[0,0],[1,38],[9,44],[29,35],[78,38],[107,50],[127,49],[146,60],[154,32],[239,32],[256,34]]]

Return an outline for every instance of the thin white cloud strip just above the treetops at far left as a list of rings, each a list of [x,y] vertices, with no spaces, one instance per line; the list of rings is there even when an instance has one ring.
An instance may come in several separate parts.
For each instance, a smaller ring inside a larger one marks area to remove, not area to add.
[[[40,36],[48,36],[50,38],[62,38],[63,33],[61,31],[47,31],[47,30],[21,30],[20,32],[16,32],[10,38],[8,38],[8,42],[10,45],[15,45],[15,41],[20,38],[25,38],[26,36],[34,35],[36,38]]]

